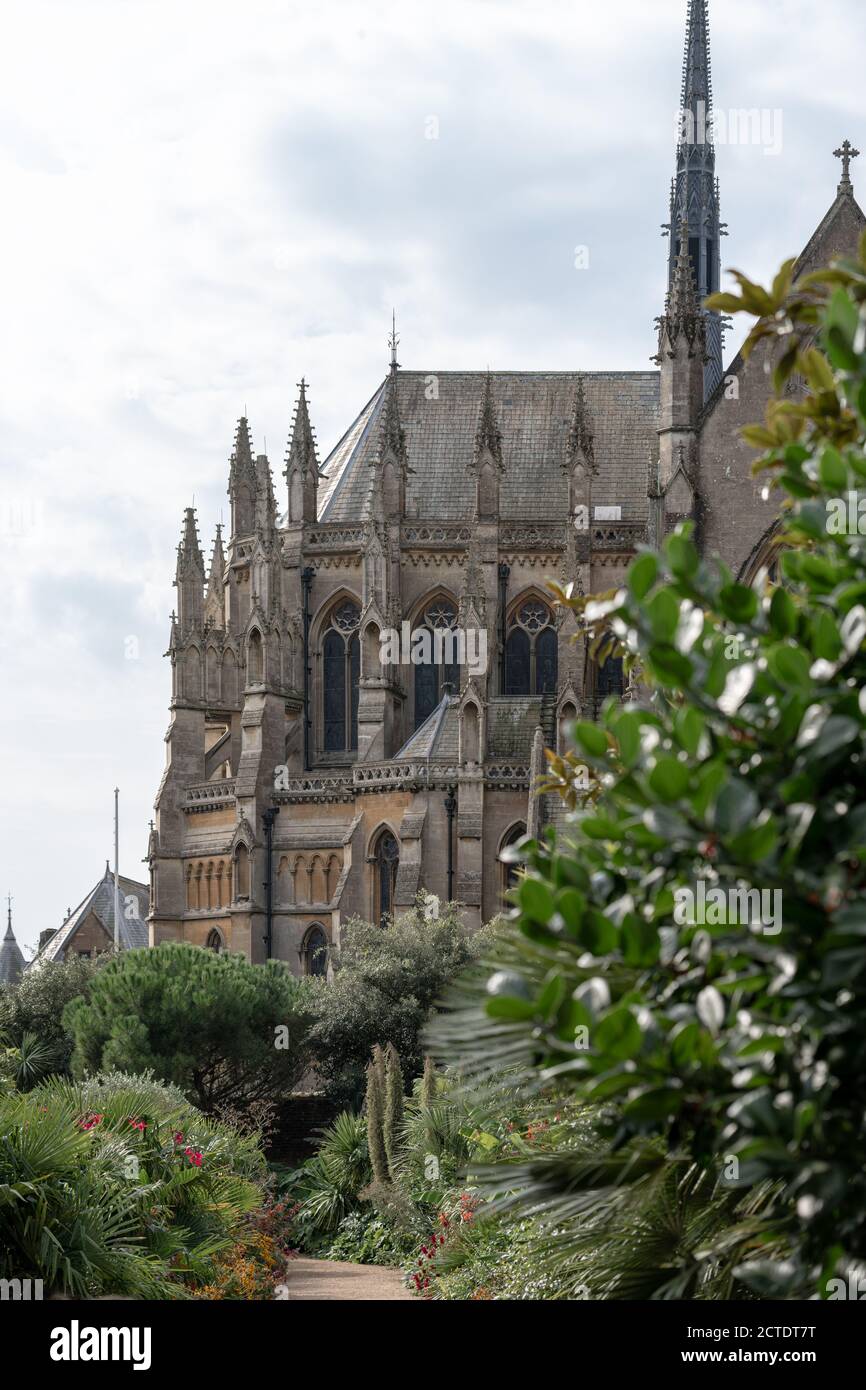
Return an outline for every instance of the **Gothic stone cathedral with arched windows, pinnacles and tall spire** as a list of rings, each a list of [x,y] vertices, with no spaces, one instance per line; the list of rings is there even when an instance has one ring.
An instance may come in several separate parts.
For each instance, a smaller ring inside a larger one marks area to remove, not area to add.
[[[206,562],[188,510],[178,546],[152,945],[320,973],[341,923],[423,890],[488,920],[502,848],[560,815],[532,792],[544,746],[630,694],[546,581],[609,589],[683,518],[745,578],[770,553],[776,506],[738,431],[763,418],[771,349],[726,367],[723,322],[701,309],[724,229],[706,11],[689,0],[652,367],[410,371],[392,334],[384,381],[324,461],[300,382],[278,488],[238,423],[228,535]],[[837,153],[801,271],[865,225],[855,152]]]

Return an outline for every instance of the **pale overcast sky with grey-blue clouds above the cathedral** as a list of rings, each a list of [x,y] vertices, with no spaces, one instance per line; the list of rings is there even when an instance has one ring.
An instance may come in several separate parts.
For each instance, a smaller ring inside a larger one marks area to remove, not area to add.
[[[6,0],[0,892],[22,945],[104,870],[115,784],[145,877],[182,509],[210,555],[245,406],[282,498],[295,384],[324,457],[392,306],[409,368],[646,368],[685,8]],[[710,0],[716,107],[781,113],[777,153],[717,150],[723,264],[767,277],[831,203],[833,149],[866,150],[865,26],[862,0]]]

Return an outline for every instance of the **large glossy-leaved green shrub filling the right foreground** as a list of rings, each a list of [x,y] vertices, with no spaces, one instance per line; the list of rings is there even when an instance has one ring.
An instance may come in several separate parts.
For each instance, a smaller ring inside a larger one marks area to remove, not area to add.
[[[652,1219],[694,1184],[699,1238],[669,1238],[655,1280],[642,1241],[656,1297],[826,1297],[866,1259],[866,236],[858,263],[794,288],[791,270],[716,300],[765,316],[752,342],[778,339],[783,399],[745,436],[781,488],[783,582],[735,581],[683,527],[623,589],[560,594],[649,698],[609,701],[550,758],[573,824],[524,844],[510,931],[432,1030],[470,1084],[507,1073],[594,1108],[601,1152],[496,1177],[570,1223],[563,1258],[598,1218],[610,1268],[605,1213]],[[794,371],[805,400],[784,395]],[[781,903],[744,897],[762,892]]]

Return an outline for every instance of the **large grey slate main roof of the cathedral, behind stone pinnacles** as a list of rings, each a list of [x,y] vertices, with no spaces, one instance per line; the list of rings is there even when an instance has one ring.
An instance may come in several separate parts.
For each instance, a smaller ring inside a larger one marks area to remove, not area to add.
[[[567,510],[562,473],[574,393],[582,375],[598,477],[594,506],[621,506],[624,521],[646,517],[646,464],[657,448],[657,371],[495,371],[491,385],[502,431],[506,520],[559,520]],[[398,406],[410,474],[407,517],[464,521],[473,516],[471,473],[487,373],[399,371]],[[435,379],[436,399],[428,399]],[[379,443],[385,382],[322,464],[320,521],[359,521]]]

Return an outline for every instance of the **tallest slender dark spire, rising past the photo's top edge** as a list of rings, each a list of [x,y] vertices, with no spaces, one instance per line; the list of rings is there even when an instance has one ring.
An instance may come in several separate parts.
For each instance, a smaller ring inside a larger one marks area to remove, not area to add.
[[[716,150],[713,146],[712,107],[713,85],[709,51],[709,0],[688,0],[685,51],[683,57],[683,86],[677,139],[677,171],[670,192],[670,234],[667,257],[669,296],[681,260],[683,243],[692,263],[698,299],[719,289],[720,238],[719,183],[716,179]],[[721,318],[702,311],[706,318],[706,364],[703,368],[703,396],[713,392],[721,379]]]

